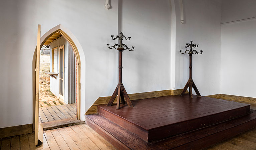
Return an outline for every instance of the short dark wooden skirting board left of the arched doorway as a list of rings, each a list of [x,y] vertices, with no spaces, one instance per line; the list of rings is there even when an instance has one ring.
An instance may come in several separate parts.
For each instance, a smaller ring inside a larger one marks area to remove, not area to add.
[[[33,124],[0,128],[0,138],[28,134],[33,132]]]

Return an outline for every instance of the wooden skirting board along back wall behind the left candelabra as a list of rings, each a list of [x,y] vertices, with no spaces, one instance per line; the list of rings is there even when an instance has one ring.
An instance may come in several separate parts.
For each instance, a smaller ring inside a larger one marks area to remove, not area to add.
[[[145,98],[153,98],[153,97],[160,97],[160,96],[168,96],[168,95],[180,95],[181,91],[183,89],[177,89],[177,90],[163,90],[163,91],[153,91],[153,92],[144,92],[144,93],[134,93],[134,94],[128,94],[131,100],[137,100],[137,99],[145,99]],[[186,91],[186,93],[189,93]],[[85,113],[85,115],[91,115],[97,113],[97,105],[101,104],[107,104],[110,100],[111,96],[107,97],[99,97],[93,105],[88,109],[88,111]],[[117,97],[114,100],[114,103],[116,103]]]

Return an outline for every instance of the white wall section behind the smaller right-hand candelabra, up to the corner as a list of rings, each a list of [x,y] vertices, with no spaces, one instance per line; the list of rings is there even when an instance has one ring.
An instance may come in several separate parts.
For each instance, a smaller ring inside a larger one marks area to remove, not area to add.
[[[172,5],[176,13],[172,18],[176,20],[172,22],[172,89],[182,89],[188,81],[189,55],[179,50],[186,50],[185,44],[193,40],[199,44],[197,50],[203,50],[203,54],[192,56],[193,81],[202,96],[219,94],[221,0],[183,0],[184,24],[180,23],[179,0]]]

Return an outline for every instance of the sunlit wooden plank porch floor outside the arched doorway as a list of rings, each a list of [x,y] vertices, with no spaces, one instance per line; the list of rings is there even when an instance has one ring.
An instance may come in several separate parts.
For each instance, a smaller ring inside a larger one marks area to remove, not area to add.
[[[76,104],[56,105],[39,108],[39,122],[76,118]]]

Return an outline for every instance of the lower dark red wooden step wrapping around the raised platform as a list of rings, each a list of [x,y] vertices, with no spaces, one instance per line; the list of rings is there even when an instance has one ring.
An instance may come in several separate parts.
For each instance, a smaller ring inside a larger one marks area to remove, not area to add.
[[[142,140],[132,132],[98,114],[86,115],[85,122],[117,149],[194,150],[203,149],[256,127],[256,112],[251,110],[248,115],[152,143]]]

